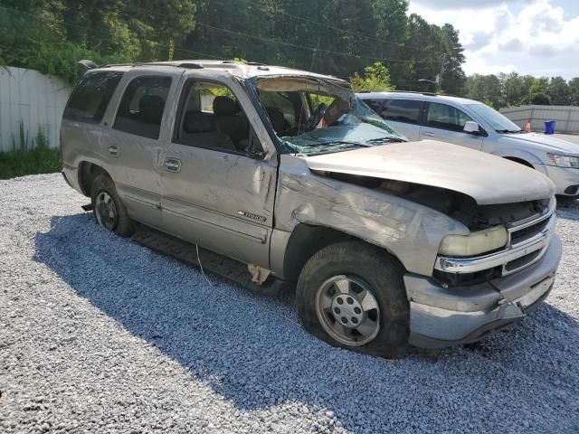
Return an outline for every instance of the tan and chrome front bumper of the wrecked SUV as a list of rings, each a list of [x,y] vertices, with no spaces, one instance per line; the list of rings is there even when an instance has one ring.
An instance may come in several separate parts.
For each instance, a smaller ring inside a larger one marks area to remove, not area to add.
[[[430,278],[405,275],[410,343],[426,348],[466,344],[524,318],[553,287],[559,259],[561,240],[554,234],[535,264],[490,283],[443,288]]]

